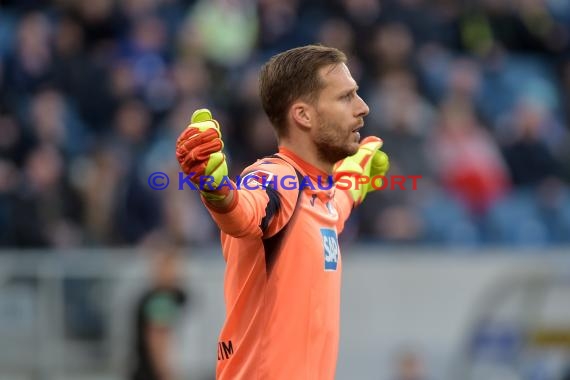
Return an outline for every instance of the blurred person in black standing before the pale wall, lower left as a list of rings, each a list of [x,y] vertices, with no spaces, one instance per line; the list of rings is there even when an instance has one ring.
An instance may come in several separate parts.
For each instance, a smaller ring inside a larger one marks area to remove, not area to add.
[[[152,283],[139,298],[135,314],[135,340],[131,380],[175,380],[173,368],[173,336],[178,321],[187,307],[187,294],[180,284],[183,268],[179,248],[168,243],[157,245],[150,239],[152,250]]]

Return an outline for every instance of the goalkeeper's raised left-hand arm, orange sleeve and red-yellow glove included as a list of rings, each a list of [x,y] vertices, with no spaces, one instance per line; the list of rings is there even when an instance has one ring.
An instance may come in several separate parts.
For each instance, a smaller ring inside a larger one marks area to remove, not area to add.
[[[202,109],[194,112],[178,138],[176,157],[222,231],[234,237],[271,235],[290,217],[297,193],[256,184],[256,172],[279,180],[286,175],[296,178],[294,170],[264,160],[246,169],[244,181],[236,184],[228,177],[223,147],[219,123],[210,111]]]

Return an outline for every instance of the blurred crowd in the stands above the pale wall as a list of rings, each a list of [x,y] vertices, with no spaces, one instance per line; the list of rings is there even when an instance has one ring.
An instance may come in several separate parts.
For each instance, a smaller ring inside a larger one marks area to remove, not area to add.
[[[570,243],[569,2],[4,0],[0,245],[215,241],[176,137],[208,107],[232,175],[273,153],[258,70],[316,42],[347,53],[390,174],[422,176],[368,197],[345,240]]]

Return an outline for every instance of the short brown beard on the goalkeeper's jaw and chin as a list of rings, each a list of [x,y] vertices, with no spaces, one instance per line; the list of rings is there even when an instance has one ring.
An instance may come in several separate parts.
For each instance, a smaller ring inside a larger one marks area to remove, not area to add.
[[[334,123],[327,123],[326,121],[319,123],[315,145],[320,160],[335,164],[358,151],[358,148],[350,147],[349,140],[352,134],[341,136],[340,130],[341,128],[337,128]]]

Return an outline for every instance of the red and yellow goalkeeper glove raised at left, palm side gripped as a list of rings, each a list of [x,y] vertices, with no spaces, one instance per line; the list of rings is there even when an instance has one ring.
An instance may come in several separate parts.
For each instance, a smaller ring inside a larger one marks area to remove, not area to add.
[[[190,180],[207,200],[223,200],[231,190],[223,148],[220,125],[212,113],[207,109],[194,111],[190,125],[176,141],[176,158],[184,174],[191,175]],[[219,186],[224,179],[226,185]]]

